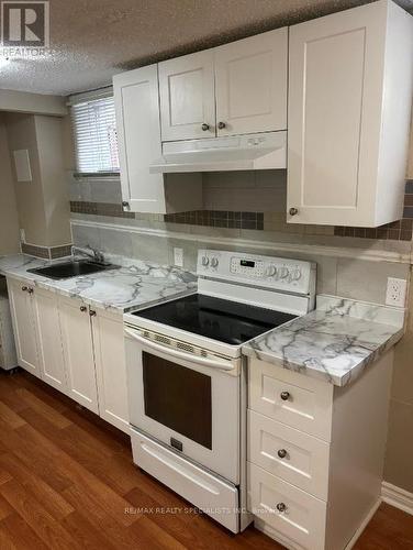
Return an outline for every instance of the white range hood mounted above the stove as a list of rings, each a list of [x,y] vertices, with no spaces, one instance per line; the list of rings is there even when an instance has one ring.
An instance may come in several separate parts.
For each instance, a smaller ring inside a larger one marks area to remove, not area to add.
[[[222,172],[287,167],[287,132],[164,142],[161,158],[149,165],[152,174]]]

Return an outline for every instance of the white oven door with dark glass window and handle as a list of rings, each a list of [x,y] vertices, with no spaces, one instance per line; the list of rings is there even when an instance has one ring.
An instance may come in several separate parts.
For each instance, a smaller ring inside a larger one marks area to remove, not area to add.
[[[125,336],[131,425],[237,485],[241,360]]]

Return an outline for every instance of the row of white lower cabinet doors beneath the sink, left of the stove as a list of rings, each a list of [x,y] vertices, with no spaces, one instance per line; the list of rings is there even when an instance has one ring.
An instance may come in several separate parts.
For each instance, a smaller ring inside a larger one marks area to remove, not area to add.
[[[18,363],[129,432],[121,314],[8,278]]]

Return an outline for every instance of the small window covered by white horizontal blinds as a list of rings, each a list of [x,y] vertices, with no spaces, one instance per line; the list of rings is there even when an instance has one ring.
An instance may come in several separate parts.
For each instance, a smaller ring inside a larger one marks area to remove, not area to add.
[[[92,94],[70,98],[76,164],[79,174],[119,173],[113,96]]]

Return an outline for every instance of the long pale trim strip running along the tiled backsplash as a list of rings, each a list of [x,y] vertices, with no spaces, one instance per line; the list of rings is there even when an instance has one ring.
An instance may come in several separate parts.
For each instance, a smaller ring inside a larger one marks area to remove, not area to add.
[[[209,243],[222,246],[236,246],[243,248],[243,250],[268,250],[268,251],[286,251],[286,252],[297,252],[304,254],[319,254],[323,256],[336,256],[336,257],[351,257],[354,260],[369,260],[370,262],[394,262],[401,264],[411,263],[411,254],[403,252],[391,252],[387,250],[371,250],[371,249],[357,249],[350,246],[331,246],[323,244],[304,244],[304,243],[291,243],[291,242],[280,242],[280,241],[259,241],[253,239],[245,239],[243,237],[211,237],[200,233],[186,233],[180,231],[167,231],[165,229],[154,229],[154,228],[141,228],[137,226],[123,226],[122,223],[109,223],[102,221],[89,221],[89,220],[70,220],[71,226],[78,226],[83,228],[98,228],[98,229],[110,229],[112,231],[126,231],[129,233],[136,233],[148,237],[160,237],[168,239],[180,239],[183,241],[194,241]]]

